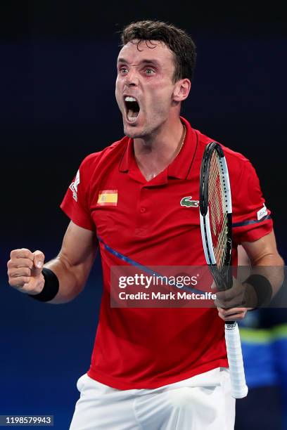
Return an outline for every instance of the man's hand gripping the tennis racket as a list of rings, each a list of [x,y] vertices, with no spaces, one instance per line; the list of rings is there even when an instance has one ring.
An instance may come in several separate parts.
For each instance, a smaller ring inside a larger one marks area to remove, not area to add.
[[[257,303],[254,289],[249,285],[242,285],[236,278],[233,278],[233,285],[230,289],[217,292],[216,295],[215,305],[218,315],[224,321],[242,320]]]

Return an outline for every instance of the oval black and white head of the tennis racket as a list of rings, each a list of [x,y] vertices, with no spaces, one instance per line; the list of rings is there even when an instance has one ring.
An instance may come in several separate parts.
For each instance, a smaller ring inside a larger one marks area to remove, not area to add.
[[[210,142],[200,168],[200,229],[205,259],[220,290],[231,286],[231,226],[227,162],[219,143]]]

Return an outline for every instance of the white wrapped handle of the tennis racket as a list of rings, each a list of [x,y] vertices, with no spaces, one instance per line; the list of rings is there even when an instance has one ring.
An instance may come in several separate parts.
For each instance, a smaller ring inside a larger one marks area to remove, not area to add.
[[[225,323],[225,341],[227,344],[231,396],[234,398],[243,398],[247,396],[248,386],[245,382],[240,334],[236,321]]]

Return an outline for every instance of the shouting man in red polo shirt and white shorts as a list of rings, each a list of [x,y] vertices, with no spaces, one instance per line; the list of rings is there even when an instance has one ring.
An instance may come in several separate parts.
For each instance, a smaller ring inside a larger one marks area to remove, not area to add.
[[[200,161],[211,141],[180,117],[195,60],[193,41],[172,25],[125,28],[115,96],[126,136],[80,165],[61,205],[71,221],[56,259],[43,268],[42,252],[11,252],[10,285],[58,304],[82,291],[99,244],[101,313],[70,429],[234,427],[223,320],[240,320],[247,308],[218,308],[219,318],[215,308],[110,307],[111,266],[205,265],[198,205],[181,204],[198,201]],[[242,155],[225,153],[234,259],[241,243],[253,264],[281,265],[255,171]],[[277,284],[268,282],[270,291]]]

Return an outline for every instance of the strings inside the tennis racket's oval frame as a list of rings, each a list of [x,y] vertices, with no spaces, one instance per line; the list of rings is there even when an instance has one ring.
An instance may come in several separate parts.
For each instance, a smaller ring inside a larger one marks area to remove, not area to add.
[[[217,152],[210,159],[210,175],[208,181],[208,206],[212,243],[217,266],[222,268],[227,254],[227,206],[224,174]]]

